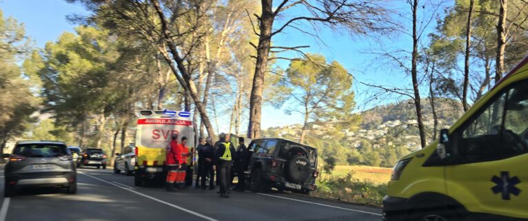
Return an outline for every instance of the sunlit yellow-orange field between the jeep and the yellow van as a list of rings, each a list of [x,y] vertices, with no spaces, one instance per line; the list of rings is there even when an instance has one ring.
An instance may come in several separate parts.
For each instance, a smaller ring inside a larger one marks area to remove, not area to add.
[[[352,178],[362,182],[372,182],[374,185],[386,184],[391,179],[392,168],[368,166],[343,166],[337,165],[332,171],[332,176],[346,176],[352,173]],[[328,175],[323,172],[323,178]]]

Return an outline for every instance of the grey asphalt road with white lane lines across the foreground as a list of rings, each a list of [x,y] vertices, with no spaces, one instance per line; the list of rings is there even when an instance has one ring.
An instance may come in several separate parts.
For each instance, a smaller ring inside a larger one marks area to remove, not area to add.
[[[3,187],[3,169],[1,177]],[[162,187],[134,187],[133,177],[110,169],[79,169],[77,180],[74,195],[63,189],[37,189],[2,198],[0,221],[381,219],[380,209],[289,193],[233,192],[225,199],[210,190],[167,193]]]

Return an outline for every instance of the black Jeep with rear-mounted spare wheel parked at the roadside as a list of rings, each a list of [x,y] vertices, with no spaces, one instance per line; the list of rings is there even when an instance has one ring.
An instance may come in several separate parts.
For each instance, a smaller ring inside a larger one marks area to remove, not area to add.
[[[317,149],[281,138],[252,140],[246,177],[251,189],[263,192],[275,187],[308,194],[316,189]]]

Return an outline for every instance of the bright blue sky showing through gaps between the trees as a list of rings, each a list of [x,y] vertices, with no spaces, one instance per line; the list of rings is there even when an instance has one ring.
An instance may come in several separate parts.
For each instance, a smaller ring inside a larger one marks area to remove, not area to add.
[[[35,46],[39,48],[43,47],[48,41],[57,40],[57,37],[65,31],[74,32],[73,28],[75,25],[66,20],[67,15],[85,13],[83,6],[66,3],[63,0],[1,0],[0,8],[3,10],[4,16],[12,16],[19,22],[24,23],[28,36],[32,38]],[[289,13],[296,12],[292,11]],[[284,19],[287,19],[287,17]],[[279,20],[276,24],[280,23]],[[432,27],[434,25],[432,24]],[[380,39],[367,39],[361,36],[351,37],[345,31],[336,33],[324,27],[321,27],[318,36],[324,44],[312,36],[307,36],[294,30],[287,30],[285,34],[279,34],[273,40],[274,45],[281,46],[311,45],[310,48],[304,51],[323,54],[327,61],[335,60],[341,63],[356,78],[354,91],[356,91],[358,110],[367,109],[372,107],[372,105],[389,103],[396,99],[385,98],[374,103],[366,103],[371,97],[372,88],[361,85],[358,81],[395,87],[408,87],[410,85],[409,77],[396,68],[387,67],[384,62],[381,62],[372,54],[373,50],[385,47],[409,48],[411,45],[409,38],[403,35],[381,36]],[[383,46],[383,43],[388,46]],[[278,65],[287,67],[288,62],[279,61]],[[263,108],[262,117],[263,128],[302,122],[301,116],[296,114],[288,116],[284,114],[283,109],[274,109],[270,106]],[[221,125],[226,125],[228,120],[221,120]],[[224,129],[226,128],[221,127],[221,130]]]

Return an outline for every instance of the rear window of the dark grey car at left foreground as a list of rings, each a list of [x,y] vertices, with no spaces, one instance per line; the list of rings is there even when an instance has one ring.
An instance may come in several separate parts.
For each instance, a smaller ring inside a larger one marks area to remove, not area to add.
[[[67,154],[64,145],[54,144],[23,144],[17,145],[13,150],[14,155],[28,158],[50,158]]]

